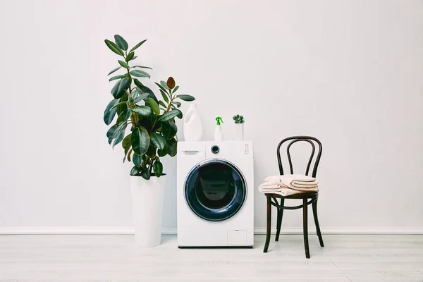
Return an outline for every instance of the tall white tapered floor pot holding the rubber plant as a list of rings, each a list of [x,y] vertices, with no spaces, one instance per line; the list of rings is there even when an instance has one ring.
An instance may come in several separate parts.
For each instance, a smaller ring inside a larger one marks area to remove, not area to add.
[[[161,243],[161,215],[163,214],[166,176],[130,176],[135,242],[139,247],[154,247]]]

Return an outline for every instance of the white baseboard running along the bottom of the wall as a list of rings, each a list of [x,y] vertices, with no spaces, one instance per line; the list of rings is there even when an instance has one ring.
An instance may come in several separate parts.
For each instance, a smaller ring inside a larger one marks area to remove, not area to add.
[[[255,234],[266,234],[266,228],[255,228]],[[0,227],[0,235],[128,235],[133,234],[132,227]],[[176,235],[176,227],[162,228],[164,235]],[[271,229],[271,233],[276,233],[276,228]],[[282,234],[302,234],[302,228],[282,227]],[[310,234],[315,234],[316,229],[309,228]],[[322,228],[321,233],[333,235],[346,234],[412,234],[423,235],[423,227],[336,227]]]

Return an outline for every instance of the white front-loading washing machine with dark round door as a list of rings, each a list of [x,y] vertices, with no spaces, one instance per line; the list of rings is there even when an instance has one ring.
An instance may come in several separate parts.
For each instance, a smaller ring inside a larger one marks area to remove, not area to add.
[[[252,142],[178,142],[179,247],[252,247]]]

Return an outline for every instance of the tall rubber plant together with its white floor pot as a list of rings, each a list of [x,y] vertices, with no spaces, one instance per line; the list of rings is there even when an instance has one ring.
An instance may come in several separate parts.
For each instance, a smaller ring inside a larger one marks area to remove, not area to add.
[[[166,174],[161,158],[176,155],[175,118],[182,118],[178,109],[180,102],[195,98],[185,94],[175,94],[179,86],[173,78],[156,82],[163,100],[157,99],[141,79],[150,78],[147,66],[133,64],[137,58],[135,50],[145,43],[138,43],[128,51],[128,43],[120,35],[114,42],[105,40],[107,47],[120,58],[119,66],[109,75],[119,70],[109,81],[115,81],[111,94],[114,99],[104,111],[104,123],[111,125],[106,135],[109,144],[115,147],[121,143],[123,162],[132,161],[130,189],[133,204],[136,243],[142,247],[152,247],[161,242],[161,214],[164,202]],[[115,117],[117,117],[115,119]]]

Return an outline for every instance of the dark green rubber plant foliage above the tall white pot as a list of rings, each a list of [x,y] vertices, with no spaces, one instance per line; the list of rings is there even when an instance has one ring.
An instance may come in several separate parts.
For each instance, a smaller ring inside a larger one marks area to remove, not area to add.
[[[150,78],[147,69],[152,68],[133,65],[133,61],[137,59],[135,50],[146,41],[129,49],[128,42],[120,35],[114,36],[114,42],[104,40],[107,47],[120,56],[119,66],[108,75],[123,70],[122,74],[109,79],[116,82],[111,89],[114,99],[104,111],[104,123],[111,125],[106,133],[109,144],[115,147],[121,143],[125,153],[123,162],[133,162],[130,175],[148,180],[150,176],[160,177],[164,174],[161,157],[176,155],[178,128],[175,118],[182,118],[178,99],[193,101],[195,98],[187,94],[175,94],[179,86],[171,77],[166,82],[162,80],[155,83],[162,100],[157,99],[154,92],[141,82],[142,79]]]

